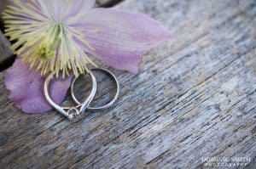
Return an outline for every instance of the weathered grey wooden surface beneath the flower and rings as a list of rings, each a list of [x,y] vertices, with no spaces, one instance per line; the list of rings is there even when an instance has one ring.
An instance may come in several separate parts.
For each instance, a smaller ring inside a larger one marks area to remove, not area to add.
[[[172,41],[146,54],[137,76],[113,70],[118,102],[79,121],[22,114],[1,73],[0,166],[208,168],[202,157],[237,156],[255,168],[255,1],[125,0],[116,8],[160,20]],[[111,84],[105,78],[101,89]]]

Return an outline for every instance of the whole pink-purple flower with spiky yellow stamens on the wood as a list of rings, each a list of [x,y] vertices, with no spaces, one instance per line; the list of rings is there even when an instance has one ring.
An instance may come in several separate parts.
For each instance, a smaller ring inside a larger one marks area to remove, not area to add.
[[[170,38],[158,21],[125,10],[92,8],[95,0],[4,1],[9,4],[3,12],[5,35],[16,40],[12,48],[18,55],[5,84],[10,99],[26,113],[50,110],[43,93],[44,76],[50,72],[66,77],[56,78],[51,87],[53,99],[61,103],[72,79],[69,72],[79,76],[87,65],[95,65],[87,54],[137,74],[142,55]]]

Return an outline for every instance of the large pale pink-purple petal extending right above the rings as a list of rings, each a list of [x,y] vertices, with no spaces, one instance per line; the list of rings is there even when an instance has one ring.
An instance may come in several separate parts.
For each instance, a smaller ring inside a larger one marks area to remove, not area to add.
[[[88,17],[69,22],[69,25],[85,30],[84,40],[96,50],[84,45],[79,37],[73,37],[73,40],[84,51],[119,70],[136,74],[142,55],[170,38],[166,27],[144,14],[131,14],[114,8],[93,8],[85,15]]]

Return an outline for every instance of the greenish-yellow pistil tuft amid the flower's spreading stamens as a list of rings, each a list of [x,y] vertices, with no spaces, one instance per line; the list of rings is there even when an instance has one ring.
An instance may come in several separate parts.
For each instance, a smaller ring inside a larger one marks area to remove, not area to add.
[[[40,59],[55,57],[56,49],[61,44],[61,24],[56,23],[44,33],[43,42],[37,48],[36,54]]]

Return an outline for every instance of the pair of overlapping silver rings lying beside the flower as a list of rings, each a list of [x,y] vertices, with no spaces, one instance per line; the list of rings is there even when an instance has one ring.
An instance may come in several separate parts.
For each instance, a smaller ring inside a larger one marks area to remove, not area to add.
[[[94,74],[92,73],[92,70],[100,70],[103,73],[111,76],[114,80],[114,82],[116,83],[116,93],[113,97],[113,99],[105,105],[102,105],[100,107],[90,107],[90,103],[93,101],[95,95],[96,95],[96,88],[97,88],[97,82],[96,82],[96,77],[94,76]],[[91,78],[91,82],[92,82],[92,87],[90,90],[90,95],[84,99],[83,102],[79,102],[79,100],[75,97],[74,94],[74,84],[77,81],[78,77],[75,77],[73,79],[73,82],[71,84],[71,96],[73,101],[76,103],[75,106],[72,107],[63,107],[59,104],[56,104],[49,96],[49,82],[53,79],[55,73],[50,74],[44,82],[44,96],[45,99],[48,101],[48,103],[55,108],[55,110],[57,110],[59,113],[61,113],[61,115],[65,115],[69,120],[72,120],[76,117],[78,117],[82,112],[84,112],[84,110],[105,110],[108,109],[109,107],[111,107],[114,102],[118,99],[119,96],[119,82],[116,78],[116,76],[113,75],[113,73],[109,70],[106,69],[102,69],[102,68],[94,68],[88,71],[88,74],[90,75]]]

